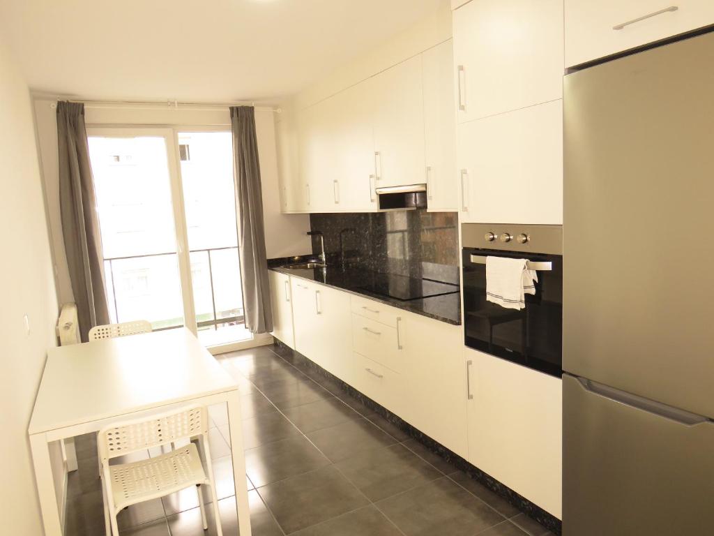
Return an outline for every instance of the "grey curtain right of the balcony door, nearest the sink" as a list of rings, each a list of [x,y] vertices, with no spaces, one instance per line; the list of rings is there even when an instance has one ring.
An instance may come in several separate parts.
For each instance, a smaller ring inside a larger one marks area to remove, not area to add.
[[[238,251],[243,279],[243,309],[251,333],[273,331],[268,282],[261,167],[258,164],[253,106],[231,106],[233,179],[238,210]]]

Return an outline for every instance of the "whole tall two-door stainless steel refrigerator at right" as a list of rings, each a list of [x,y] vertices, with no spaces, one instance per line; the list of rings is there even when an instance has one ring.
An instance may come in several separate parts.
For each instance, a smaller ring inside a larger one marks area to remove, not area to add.
[[[714,33],[563,106],[563,534],[714,535]]]

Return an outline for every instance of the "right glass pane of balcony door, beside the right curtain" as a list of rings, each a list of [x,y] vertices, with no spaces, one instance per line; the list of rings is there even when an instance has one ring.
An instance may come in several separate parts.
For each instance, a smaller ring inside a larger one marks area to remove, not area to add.
[[[238,264],[230,132],[180,132],[178,154],[198,338],[218,346],[251,338]]]

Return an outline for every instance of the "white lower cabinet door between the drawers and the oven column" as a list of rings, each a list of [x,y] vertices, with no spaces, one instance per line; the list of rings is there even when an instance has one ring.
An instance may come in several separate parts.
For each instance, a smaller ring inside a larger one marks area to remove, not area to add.
[[[461,327],[404,314],[406,400],[411,425],[466,458],[466,367]]]

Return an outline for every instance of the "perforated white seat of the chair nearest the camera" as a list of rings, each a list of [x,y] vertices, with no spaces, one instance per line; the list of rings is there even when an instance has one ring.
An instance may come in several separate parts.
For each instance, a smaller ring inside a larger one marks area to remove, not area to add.
[[[193,443],[149,460],[110,465],[109,476],[115,512],[191,485],[208,484]]]

